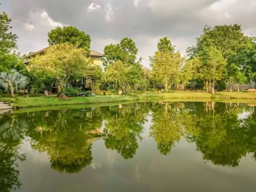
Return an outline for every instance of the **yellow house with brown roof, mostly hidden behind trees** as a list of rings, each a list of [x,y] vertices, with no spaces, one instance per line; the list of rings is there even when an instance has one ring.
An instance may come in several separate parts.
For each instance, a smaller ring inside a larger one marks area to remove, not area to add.
[[[41,49],[41,50],[39,50],[39,51],[37,51],[37,52],[34,52],[34,53],[29,54],[28,56],[24,57],[24,58],[25,58],[25,61],[24,61],[23,63],[24,63],[24,64],[28,64],[31,57],[35,57],[37,54],[43,55],[43,54],[45,53],[45,51],[46,51],[47,49],[49,49],[49,48],[50,48],[50,46],[45,47],[44,49]],[[100,66],[100,65],[101,65],[100,58],[102,58],[102,54],[101,54],[101,53],[98,53],[98,52],[96,52],[96,51],[93,51],[93,50],[90,50],[90,51],[91,51],[91,57],[92,57],[92,59],[93,59],[93,63],[94,63],[95,65],[99,65],[99,66]]]

